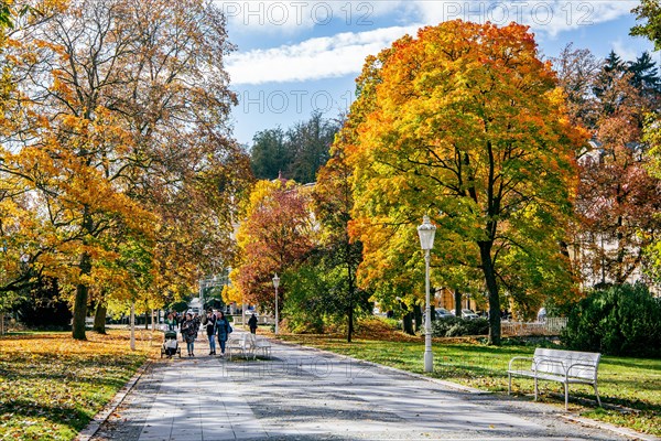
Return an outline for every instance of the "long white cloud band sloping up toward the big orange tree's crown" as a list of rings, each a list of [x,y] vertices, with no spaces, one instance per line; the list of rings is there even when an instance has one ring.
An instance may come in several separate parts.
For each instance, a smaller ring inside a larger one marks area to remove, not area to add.
[[[420,25],[392,26],[367,32],[344,32],[295,45],[235,53],[227,71],[235,85],[258,85],[332,78],[360,72],[365,57],[377,54]]]

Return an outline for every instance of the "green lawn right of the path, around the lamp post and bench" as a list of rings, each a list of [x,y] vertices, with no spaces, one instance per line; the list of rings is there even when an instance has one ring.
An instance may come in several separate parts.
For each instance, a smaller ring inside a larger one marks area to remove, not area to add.
[[[281,338],[423,374],[424,342],[355,340],[324,335],[281,335]],[[434,341],[434,373],[430,376],[475,388],[507,394],[507,367],[513,356],[531,356],[534,345],[500,347],[479,343]],[[570,410],[641,432],[661,435],[661,361],[604,356],[599,364],[598,408],[590,386],[570,386]],[[532,399],[532,379],[514,378],[513,392]],[[540,400],[564,410],[563,386],[540,381]],[[578,398],[579,400],[577,400]]]

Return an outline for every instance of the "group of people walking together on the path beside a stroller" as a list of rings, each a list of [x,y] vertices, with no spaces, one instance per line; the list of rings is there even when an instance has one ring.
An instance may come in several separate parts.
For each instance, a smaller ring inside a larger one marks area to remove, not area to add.
[[[176,331],[178,326],[182,338],[186,342],[189,357],[195,356],[195,340],[201,326],[205,327],[207,338],[209,340],[209,355],[216,355],[216,338],[218,338],[220,345],[220,355],[225,355],[225,345],[229,334],[232,332],[231,325],[223,311],[214,313],[213,310],[208,310],[206,315],[202,316],[187,312],[182,320],[177,320],[171,313],[167,315],[165,324],[169,331]]]

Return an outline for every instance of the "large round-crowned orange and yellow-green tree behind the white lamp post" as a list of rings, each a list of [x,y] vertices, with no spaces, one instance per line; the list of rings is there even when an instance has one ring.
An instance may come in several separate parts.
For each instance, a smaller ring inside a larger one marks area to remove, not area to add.
[[[585,137],[568,123],[556,85],[528,28],[457,20],[368,58],[349,115],[371,107],[357,116],[364,121],[348,147],[353,234],[366,261],[390,252],[389,240],[373,238],[407,235],[420,268],[413,237],[429,214],[453,238],[437,243],[434,267],[463,252],[478,262],[492,344],[500,344],[501,287],[531,295],[570,288],[559,240]]]

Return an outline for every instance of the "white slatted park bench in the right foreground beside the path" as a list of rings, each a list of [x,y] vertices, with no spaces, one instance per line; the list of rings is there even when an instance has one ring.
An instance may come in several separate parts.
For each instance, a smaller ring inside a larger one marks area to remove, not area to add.
[[[568,409],[570,384],[592,385],[597,402],[602,406],[597,390],[597,368],[602,354],[594,352],[545,349],[538,347],[532,357],[513,357],[508,366],[508,395],[512,391],[512,375],[534,378],[534,399],[538,398],[538,380],[557,381],[564,385],[565,410]],[[524,361],[531,361],[528,369]]]

